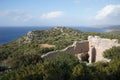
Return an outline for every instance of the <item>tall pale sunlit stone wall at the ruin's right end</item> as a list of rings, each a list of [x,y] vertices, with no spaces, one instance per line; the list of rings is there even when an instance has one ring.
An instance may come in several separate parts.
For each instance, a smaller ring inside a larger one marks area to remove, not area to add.
[[[89,61],[92,62],[93,56],[95,58],[95,62],[97,61],[109,61],[108,59],[103,57],[103,52],[107,49],[112,48],[113,46],[120,46],[118,44],[117,39],[106,39],[100,38],[99,36],[89,36]],[[95,54],[93,54],[93,48],[95,50]]]

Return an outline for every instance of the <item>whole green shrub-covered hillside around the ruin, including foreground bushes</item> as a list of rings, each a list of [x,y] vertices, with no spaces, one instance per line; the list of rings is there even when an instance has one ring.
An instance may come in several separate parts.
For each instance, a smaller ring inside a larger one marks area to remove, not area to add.
[[[98,77],[100,80],[109,80],[111,77],[117,80],[114,72],[120,72],[120,47],[105,52],[104,56],[112,59],[110,63],[98,62],[89,66],[67,52],[57,52],[61,54],[52,58],[41,58],[41,55],[50,51],[61,50],[73,42],[87,40],[88,36],[120,41],[120,36],[116,34],[83,32],[66,27],[30,31],[13,42],[0,45],[0,72],[10,69],[0,80],[93,80]],[[103,73],[104,76],[101,75]]]

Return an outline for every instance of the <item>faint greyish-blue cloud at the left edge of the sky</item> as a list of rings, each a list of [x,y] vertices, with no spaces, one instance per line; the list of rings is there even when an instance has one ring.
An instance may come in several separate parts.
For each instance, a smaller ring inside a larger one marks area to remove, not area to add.
[[[5,18],[7,20],[20,21],[20,22],[27,22],[33,18],[32,15],[19,9],[0,11],[0,17]]]

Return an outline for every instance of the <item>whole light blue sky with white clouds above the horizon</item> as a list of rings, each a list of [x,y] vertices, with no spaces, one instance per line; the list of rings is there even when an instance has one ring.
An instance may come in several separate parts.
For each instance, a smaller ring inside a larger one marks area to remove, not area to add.
[[[120,25],[120,0],[0,0],[0,26]]]

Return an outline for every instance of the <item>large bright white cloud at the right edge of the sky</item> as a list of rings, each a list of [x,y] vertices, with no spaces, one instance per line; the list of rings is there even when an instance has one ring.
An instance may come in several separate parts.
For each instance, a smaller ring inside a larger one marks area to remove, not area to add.
[[[95,16],[96,20],[120,20],[120,5],[107,5]]]

